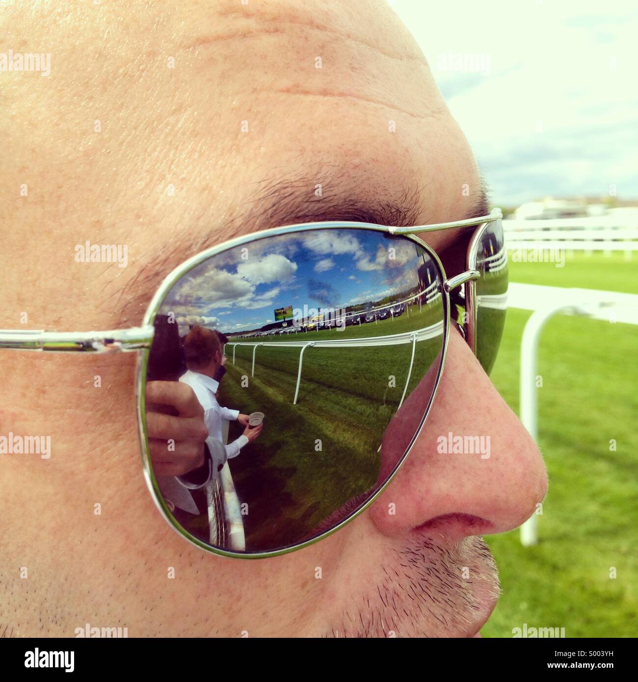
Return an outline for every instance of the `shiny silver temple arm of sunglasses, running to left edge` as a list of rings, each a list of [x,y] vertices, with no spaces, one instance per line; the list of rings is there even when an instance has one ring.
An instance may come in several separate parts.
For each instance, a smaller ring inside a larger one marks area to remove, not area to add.
[[[56,353],[127,353],[150,348],[154,327],[113,331],[0,329],[0,349]]]

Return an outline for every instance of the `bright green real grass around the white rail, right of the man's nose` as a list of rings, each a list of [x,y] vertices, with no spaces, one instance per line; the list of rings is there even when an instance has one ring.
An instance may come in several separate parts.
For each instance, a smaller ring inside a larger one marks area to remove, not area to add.
[[[512,281],[638,293],[638,258],[577,255],[564,268],[514,263]],[[519,407],[519,349],[530,312],[508,310],[492,379]],[[483,628],[564,627],[568,637],[638,634],[638,327],[556,316],[542,333],[540,449],[549,492],[538,546],[487,537],[503,596]],[[610,451],[614,439],[617,450]],[[615,567],[617,578],[609,578]]]

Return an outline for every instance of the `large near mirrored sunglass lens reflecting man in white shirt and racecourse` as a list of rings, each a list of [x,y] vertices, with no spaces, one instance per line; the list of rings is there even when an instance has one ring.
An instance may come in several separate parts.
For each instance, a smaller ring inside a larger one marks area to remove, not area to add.
[[[440,289],[418,243],[352,228],[259,239],[183,276],[155,318],[147,381],[192,387],[212,475],[156,475],[175,522],[218,548],[265,552],[365,503],[431,399]]]

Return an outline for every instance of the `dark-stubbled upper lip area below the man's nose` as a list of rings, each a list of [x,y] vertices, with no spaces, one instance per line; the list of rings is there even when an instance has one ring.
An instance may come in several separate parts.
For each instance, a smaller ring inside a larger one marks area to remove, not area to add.
[[[495,561],[478,536],[447,544],[422,533],[366,564],[364,578],[357,565],[342,581],[340,615],[323,636],[480,636],[500,594]]]

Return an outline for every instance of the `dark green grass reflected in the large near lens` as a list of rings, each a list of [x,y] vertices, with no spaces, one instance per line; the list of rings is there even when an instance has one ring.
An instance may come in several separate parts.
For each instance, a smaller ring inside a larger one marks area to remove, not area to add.
[[[404,314],[379,325],[347,327],[343,335],[377,336],[372,331],[375,326],[383,330],[378,336],[413,331],[440,321],[441,316],[439,303],[424,308],[422,314],[417,308],[410,318]],[[334,338],[341,333],[319,331],[312,338]],[[255,376],[251,376],[252,346],[237,346],[235,364],[227,349],[221,404],[266,415],[259,441],[230,462],[240,501],[249,505],[244,517],[247,546],[272,546],[272,537],[281,544],[294,542],[353,496],[375,485],[379,445],[398,409],[408,375],[407,395],[438,357],[441,343],[439,336],[416,344],[410,374],[409,343],[309,348],[304,353],[296,405],[300,347],[259,346]],[[242,377],[247,387],[242,387]],[[229,439],[241,431],[231,422]]]

